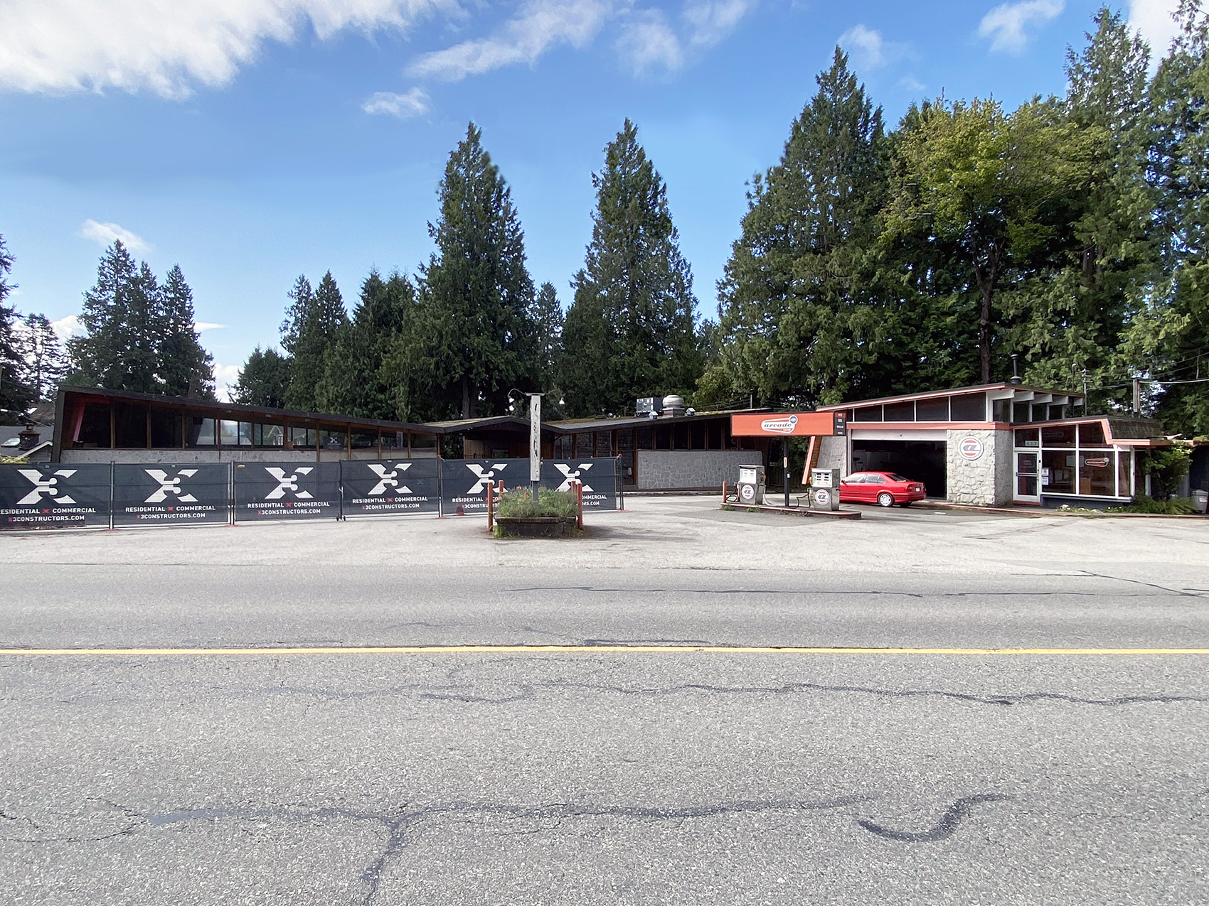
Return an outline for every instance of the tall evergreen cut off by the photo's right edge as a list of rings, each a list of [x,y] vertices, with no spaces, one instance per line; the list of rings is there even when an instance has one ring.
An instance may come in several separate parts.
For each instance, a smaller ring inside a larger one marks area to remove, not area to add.
[[[1209,434],[1209,11],[1181,0],[1180,35],[1151,83],[1150,181],[1158,267],[1124,355],[1149,378],[1169,430]]]

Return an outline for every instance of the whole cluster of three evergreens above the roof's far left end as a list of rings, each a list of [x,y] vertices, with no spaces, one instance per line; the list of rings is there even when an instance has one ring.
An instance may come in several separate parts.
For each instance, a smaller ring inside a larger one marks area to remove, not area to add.
[[[213,366],[193,329],[193,295],[180,267],[161,288],[121,240],[105,250],[83,296],[87,336],[68,341],[71,383],[110,390],[213,397]]]

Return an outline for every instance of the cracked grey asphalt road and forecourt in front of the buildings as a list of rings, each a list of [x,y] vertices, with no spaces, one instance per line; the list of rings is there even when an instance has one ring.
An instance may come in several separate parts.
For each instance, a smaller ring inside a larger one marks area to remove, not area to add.
[[[0,902],[1209,901],[1209,523],[631,507],[0,536]]]

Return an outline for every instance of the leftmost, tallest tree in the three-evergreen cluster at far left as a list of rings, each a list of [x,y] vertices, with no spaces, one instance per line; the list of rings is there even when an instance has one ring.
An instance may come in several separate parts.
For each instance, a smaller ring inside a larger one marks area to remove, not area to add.
[[[97,284],[85,294],[80,321],[87,336],[68,341],[73,382],[110,390],[160,393],[156,348],[161,331],[160,286],[151,268],[117,239],[97,268]]]

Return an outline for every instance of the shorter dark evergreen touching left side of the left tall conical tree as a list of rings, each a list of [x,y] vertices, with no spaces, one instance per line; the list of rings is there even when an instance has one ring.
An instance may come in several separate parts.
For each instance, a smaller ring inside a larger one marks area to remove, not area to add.
[[[386,280],[371,271],[352,319],[342,325],[328,350],[319,407],[363,418],[397,417],[395,394],[382,373],[382,362],[415,316],[416,290],[398,272]]]

